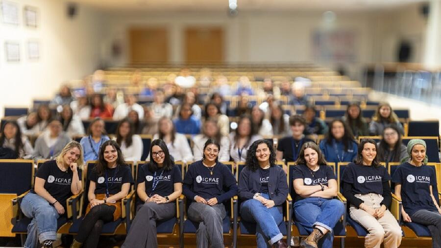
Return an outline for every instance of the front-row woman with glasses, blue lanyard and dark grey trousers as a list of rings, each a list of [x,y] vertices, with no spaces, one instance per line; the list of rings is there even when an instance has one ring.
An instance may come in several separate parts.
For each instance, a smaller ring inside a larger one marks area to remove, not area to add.
[[[123,248],[158,247],[156,222],[176,215],[175,200],[182,193],[181,170],[162,139],[151,142],[150,158],[153,161],[140,168],[137,180],[136,191],[144,204],[138,206]]]

